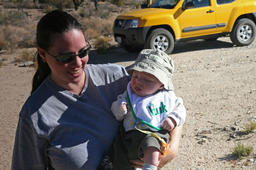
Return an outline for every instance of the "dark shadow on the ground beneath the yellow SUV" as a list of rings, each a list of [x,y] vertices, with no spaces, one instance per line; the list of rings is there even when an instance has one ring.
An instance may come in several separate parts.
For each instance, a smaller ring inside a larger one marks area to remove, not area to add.
[[[190,51],[230,48],[231,42],[226,41],[205,41],[195,40],[175,43],[172,54],[185,53]],[[128,53],[123,48],[115,48],[109,54],[97,54],[95,49],[91,49],[88,64],[107,64],[116,62],[135,61],[139,53]]]

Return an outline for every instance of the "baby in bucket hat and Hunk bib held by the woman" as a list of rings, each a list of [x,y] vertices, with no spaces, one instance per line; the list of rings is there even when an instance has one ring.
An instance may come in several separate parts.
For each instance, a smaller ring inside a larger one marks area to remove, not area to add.
[[[132,76],[131,81],[111,106],[123,127],[119,128],[108,158],[112,170],[131,170],[129,160],[137,158],[144,161],[143,170],[156,170],[164,147],[157,137],[140,130],[154,132],[168,143],[168,132],[185,122],[183,101],[175,96],[172,85],[174,64],[163,51],[145,49],[125,69]]]

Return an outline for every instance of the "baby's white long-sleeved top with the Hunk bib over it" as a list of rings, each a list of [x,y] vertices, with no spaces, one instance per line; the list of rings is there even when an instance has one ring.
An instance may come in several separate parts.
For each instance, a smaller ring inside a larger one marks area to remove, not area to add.
[[[127,90],[132,108],[137,118],[140,118],[158,128],[161,127],[161,122],[166,117],[172,117],[176,121],[177,126],[180,126],[185,122],[186,110],[183,105],[183,100],[181,98],[177,98],[174,91],[163,89],[155,94],[140,97],[132,91],[130,82],[127,85]],[[117,101],[113,102],[111,111],[118,121],[123,120],[125,131],[131,130],[133,128],[130,124],[134,122],[135,119],[132,115],[129,104],[127,104],[126,91],[119,95],[117,99]],[[123,107],[124,103],[127,104],[127,111],[125,111]],[[156,129],[148,126],[144,126],[141,129],[148,128],[153,131],[157,131]]]

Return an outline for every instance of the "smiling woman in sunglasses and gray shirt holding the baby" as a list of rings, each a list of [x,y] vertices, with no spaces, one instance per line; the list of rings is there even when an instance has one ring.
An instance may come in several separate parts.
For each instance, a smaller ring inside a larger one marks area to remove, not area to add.
[[[115,64],[86,65],[91,46],[85,30],[60,10],[38,22],[38,67],[19,114],[12,170],[96,170],[117,135],[120,122],[110,108],[130,77]],[[176,153],[181,131],[171,134]]]

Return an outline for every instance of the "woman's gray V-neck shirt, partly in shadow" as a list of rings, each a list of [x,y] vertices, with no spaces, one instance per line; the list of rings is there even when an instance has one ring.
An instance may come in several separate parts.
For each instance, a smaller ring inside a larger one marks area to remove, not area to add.
[[[117,135],[110,108],[130,81],[115,64],[87,65],[79,97],[48,76],[19,114],[12,170],[96,170]]]

